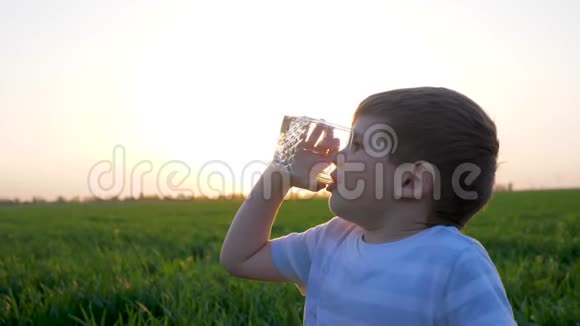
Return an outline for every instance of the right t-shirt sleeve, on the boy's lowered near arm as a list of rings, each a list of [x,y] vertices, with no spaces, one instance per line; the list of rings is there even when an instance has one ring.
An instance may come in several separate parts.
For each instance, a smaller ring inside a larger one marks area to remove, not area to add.
[[[455,262],[444,303],[448,325],[517,325],[499,273],[479,243]]]

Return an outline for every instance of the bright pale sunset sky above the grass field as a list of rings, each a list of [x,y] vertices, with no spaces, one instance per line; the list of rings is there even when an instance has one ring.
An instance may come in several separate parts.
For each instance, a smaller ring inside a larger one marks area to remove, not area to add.
[[[0,0],[0,198],[247,192],[284,115],[415,86],[486,110],[498,183],[580,187],[578,58],[579,1]]]

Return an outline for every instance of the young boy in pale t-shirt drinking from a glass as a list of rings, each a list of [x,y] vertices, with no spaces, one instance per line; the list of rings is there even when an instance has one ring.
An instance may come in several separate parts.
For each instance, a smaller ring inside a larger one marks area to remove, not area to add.
[[[476,103],[445,88],[383,92],[356,110],[347,148],[310,138],[236,214],[220,255],[229,273],[295,283],[305,325],[515,324],[487,252],[459,231],[495,180],[496,127]],[[312,176],[330,162],[336,217],[270,240],[289,188],[322,189]]]

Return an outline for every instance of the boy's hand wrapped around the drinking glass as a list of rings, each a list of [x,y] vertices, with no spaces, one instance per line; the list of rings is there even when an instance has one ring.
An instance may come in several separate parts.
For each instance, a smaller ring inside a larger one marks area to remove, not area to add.
[[[294,162],[290,171],[286,171],[290,177],[290,186],[319,191],[326,184],[316,178],[331,163],[334,155],[338,152],[340,141],[334,138],[332,128],[316,125],[310,137],[304,133],[296,147]],[[322,139],[320,137],[322,136]],[[319,141],[320,139],[320,141]]]

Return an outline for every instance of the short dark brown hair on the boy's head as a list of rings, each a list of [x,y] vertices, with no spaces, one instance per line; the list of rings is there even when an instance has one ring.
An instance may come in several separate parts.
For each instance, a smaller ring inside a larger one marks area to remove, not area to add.
[[[495,123],[467,96],[436,87],[391,90],[366,98],[353,124],[361,115],[376,117],[395,130],[398,147],[390,157],[393,163],[424,160],[438,170],[441,192],[433,201],[433,224],[462,228],[489,201],[499,141]],[[463,190],[475,191],[475,199],[462,198],[452,185],[453,173],[462,163],[481,169],[470,184],[459,178]]]

